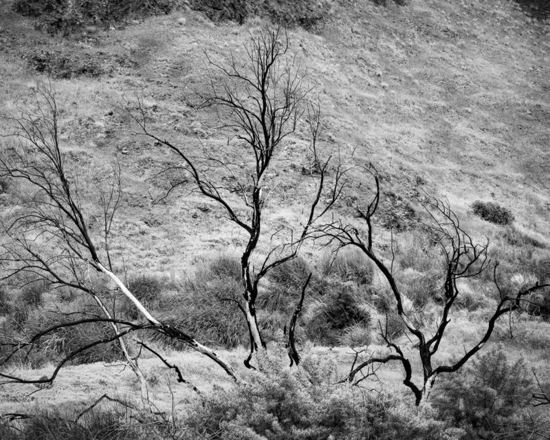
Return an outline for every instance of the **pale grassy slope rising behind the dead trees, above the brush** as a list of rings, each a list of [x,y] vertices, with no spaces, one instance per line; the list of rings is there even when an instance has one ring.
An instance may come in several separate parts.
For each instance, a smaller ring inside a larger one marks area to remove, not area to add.
[[[468,213],[472,201],[483,199],[511,208],[520,227],[548,237],[548,26],[525,17],[511,1],[410,3],[380,8],[340,0],[318,34],[292,32],[292,48],[320,94],[328,125],[324,151],[340,146],[346,153],[358,146],[358,160],[380,169],[384,190],[404,198],[419,190],[446,195],[476,234],[494,230]],[[243,236],[199,197],[151,204],[148,191],[157,194],[159,188],[145,178],[169,156],[136,137],[136,127],[115,107],[140,94],[150,109],[158,106],[153,124],[160,133],[177,126],[173,135],[194,151],[201,142],[225,146],[213,115],[195,113],[181,97],[203,84],[202,50],[214,58],[226,56],[264,23],[213,26],[200,14],[181,12],[76,43],[32,30],[8,6],[0,6],[0,89],[8,110],[24,102],[29,85],[45,79],[30,71],[21,54],[104,52],[137,63],[99,80],[53,82],[67,109],[66,148],[83,167],[110,157],[123,166],[126,199],[116,225],[115,256],[124,256],[131,270],[180,271],[206,252],[239,248]],[[177,24],[179,17],[186,18],[185,25]],[[302,137],[298,133],[283,156],[303,162],[296,168],[278,164],[284,191],[272,202],[270,225],[298,219],[303,188],[311,184],[300,173],[307,164],[300,153],[307,146]],[[287,208],[276,208],[283,202]],[[203,212],[206,208],[210,213]],[[456,322],[464,334],[465,318]],[[91,376],[100,374],[97,366],[89,368]],[[91,389],[96,379],[87,380]]]

